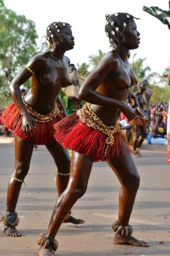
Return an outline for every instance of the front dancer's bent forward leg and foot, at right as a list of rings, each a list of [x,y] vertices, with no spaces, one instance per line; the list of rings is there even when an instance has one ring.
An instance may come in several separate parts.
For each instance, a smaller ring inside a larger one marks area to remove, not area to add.
[[[139,174],[131,153],[126,153],[124,156],[107,161],[107,163],[114,170],[122,186],[119,194],[118,223],[122,226],[128,226],[137,189],[139,188]],[[120,234],[114,236],[114,244],[148,247],[148,244],[144,241],[137,240],[133,236],[121,236]]]

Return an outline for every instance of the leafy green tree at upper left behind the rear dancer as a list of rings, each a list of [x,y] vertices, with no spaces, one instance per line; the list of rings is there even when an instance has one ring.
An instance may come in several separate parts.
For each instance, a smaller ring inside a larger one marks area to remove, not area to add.
[[[37,54],[35,22],[8,10],[0,0],[0,93],[8,94],[10,81]]]

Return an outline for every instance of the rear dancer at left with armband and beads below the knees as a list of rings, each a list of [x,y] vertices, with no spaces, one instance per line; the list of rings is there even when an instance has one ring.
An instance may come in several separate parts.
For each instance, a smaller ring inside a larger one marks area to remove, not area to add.
[[[60,108],[67,115],[58,95],[62,86],[72,84],[69,78],[67,50],[74,47],[71,26],[66,22],[52,22],[47,28],[51,50],[33,57],[10,84],[14,103],[2,114],[2,121],[15,135],[15,167],[7,188],[7,210],[1,218],[1,229],[7,236],[21,236],[16,229],[19,223],[16,204],[29,165],[34,144],[46,145],[56,163],[58,196],[65,191],[69,180],[70,158],[67,150],[54,140],[53,125],[61,120]],[[31,78],[31,89],[21,97],[20,86]],[[71,209],[71,208],[70,208]],[[69,211],[70,212],[70,211]],[[65,222],[84,223],[70,214]]]

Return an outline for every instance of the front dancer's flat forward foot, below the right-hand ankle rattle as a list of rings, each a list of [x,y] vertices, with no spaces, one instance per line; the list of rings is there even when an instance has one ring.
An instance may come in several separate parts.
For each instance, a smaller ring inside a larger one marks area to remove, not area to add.
[[[115,234],[114,244],[131,244],[131,245],[142,246],[142,247],[149,246],[149,244],[147,244],[143,240],[138,240],[133,236],[120,236],[120,234]]]

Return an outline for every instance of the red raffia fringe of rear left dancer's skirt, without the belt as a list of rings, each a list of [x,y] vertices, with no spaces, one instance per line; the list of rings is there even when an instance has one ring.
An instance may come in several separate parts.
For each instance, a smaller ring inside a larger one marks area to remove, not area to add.
[[[38,123],[35,121],[36,129],[31,135],[24,135],[22,131],[22,115],[20,114],[15,103],[10,104],[2,112],[1,120],[7,129],[10,129],[14,135],[23,140],[28,140],[37,145],[54,144],[54,124],[61,120],[60,116],[56,116],[48,123]]]

